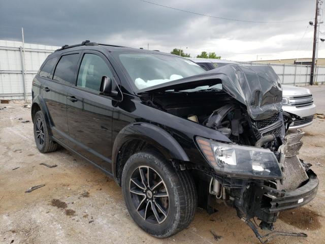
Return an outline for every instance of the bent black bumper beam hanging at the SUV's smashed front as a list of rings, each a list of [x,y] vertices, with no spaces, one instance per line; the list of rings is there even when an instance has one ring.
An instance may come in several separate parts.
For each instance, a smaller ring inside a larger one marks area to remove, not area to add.
[[[271,200],[271,207],[268,209],[270,214],[275,212],[301,207],[310,202],[316,196],[318,189],[318,178],[315,174],[310,174],[308,182],[294,190],[284,192],[281,197],[275,197]]]

